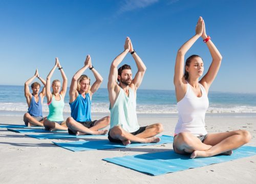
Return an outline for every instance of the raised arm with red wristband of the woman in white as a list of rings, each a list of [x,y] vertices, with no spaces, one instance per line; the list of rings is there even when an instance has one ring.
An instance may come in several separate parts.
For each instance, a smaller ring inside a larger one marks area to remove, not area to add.
[[[205,30],[205,24],[203,20],[203,33],[202,33],[202,38],[205,40],[207,38],[206,30]],[[210,55],[212,57],[212,62],[210,64],[208,72],[205,74],[205,76],[200,80],[200,83],[204,85],[206,90],[208,91],[211,83],[214,81],[215,77],[218,74],[220,65],[221,65],[221,60],[222,56],[218,49],[215,47],[215,44],[209,39],[206,42],[206,45],[210,51]]]

